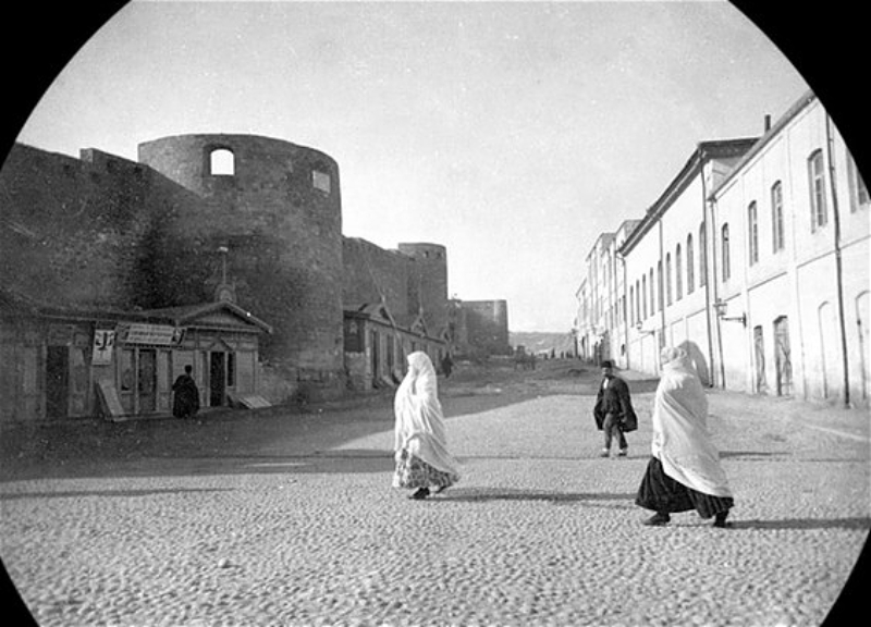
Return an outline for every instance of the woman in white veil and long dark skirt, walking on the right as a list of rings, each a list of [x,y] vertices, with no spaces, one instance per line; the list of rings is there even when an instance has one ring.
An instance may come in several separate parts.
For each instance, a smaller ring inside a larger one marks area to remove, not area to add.
[[[662,349],[662,378],[653,404],[652,457],[636,504],[655,514],[645,525],[661,526],[670,514],[696,509],[729,527],[734,505],[720,453],[708,432],[708,398],[683,348]]]

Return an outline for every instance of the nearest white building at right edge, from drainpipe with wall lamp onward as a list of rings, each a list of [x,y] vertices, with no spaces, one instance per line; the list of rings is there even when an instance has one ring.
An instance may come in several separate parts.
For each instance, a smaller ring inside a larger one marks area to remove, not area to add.
[[[713,189],[722,385],[868,401],[868,208],[844,138],[812,93]]]

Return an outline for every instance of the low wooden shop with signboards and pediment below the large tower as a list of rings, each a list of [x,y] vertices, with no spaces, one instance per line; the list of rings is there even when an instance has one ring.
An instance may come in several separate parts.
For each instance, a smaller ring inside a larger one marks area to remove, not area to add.
[[[200,407],[245,404],[269,324],[229,300],[143,311],[57,308],[0,293],[2,422],[172,414],[192,366]]]

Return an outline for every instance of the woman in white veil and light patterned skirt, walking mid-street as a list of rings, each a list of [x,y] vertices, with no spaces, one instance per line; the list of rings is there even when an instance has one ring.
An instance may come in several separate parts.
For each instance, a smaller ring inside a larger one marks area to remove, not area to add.
[[[410,499],[420,500],[429,496],[430,487],[441,492],[459,481],[458,465],[447,452],[436,369],[426,353],[408,355],[408,372],[396,390],[393,408],[393,487],[416,489]]]

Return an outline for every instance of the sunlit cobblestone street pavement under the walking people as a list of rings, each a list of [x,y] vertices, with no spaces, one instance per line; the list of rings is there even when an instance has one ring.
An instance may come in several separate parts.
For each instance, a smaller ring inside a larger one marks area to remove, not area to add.
[[[603,459],[589,395],[449,389],[464,476],[428,501],[390,488],[388,403],[204,420],[224,446],[7,465],[0,554],[45,626],[820,625],[871,528],[868,414],[710,398],[733,529],[640,524],[649,391]]]

